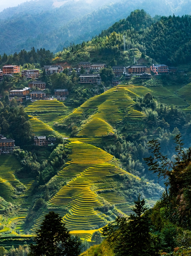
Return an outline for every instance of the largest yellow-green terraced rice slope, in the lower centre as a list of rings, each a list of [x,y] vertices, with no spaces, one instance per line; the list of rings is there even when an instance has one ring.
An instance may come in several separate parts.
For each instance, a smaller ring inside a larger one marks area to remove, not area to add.
[[[58,177],[71,181],[50,199],[49,206],[52,209],[65,207],[61,216],[69,230],[86,230],[88,233],[88,230],[98,229],[108,222],[107,216],[96,210],[103,205],[103,200],[115,205],[115,214],[121,214],[117,205],[127,201],[120,192],[116,192],[119,183],[113,175],[128,173],[116,167],[112,162],[113,156],[98,147],[74,141],[66,148],[71,150],[68,166],[58,173]],[[37,220],[32,233],[42,218]]]

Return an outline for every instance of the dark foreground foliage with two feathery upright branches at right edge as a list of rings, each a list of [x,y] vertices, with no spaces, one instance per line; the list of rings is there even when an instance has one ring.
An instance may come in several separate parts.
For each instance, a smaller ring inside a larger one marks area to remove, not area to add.
[[[166,192],[162,196],[165,215],[175,224],[191,228],[190,218],[190,181],[191,181],[191,147],[184,150],[181,134],[175,136],[175,161],[169,160],[161,153],[157,140],[148,142],[152,155],[144,160],[149,170],[165,179]]]

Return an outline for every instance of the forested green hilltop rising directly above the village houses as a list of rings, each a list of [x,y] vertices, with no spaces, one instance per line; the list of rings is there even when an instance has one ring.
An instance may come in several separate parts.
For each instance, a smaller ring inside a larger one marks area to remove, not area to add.
[[[123,51],[123,35],[129,52]],[[144,10],[135,10],[93,37],[91,41],[71,45],[56,53],[56,61],[76,64],[81,60],[104,61],[110,65],[131,64],[135,58],[148,56],[158,63],[178,65],[190,62],[191,16],[152,18]],[[115,58],[116,63],[111,60]]]

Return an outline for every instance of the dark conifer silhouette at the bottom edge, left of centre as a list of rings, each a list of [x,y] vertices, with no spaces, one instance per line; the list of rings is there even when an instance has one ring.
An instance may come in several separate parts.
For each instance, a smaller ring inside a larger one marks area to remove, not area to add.
[[[63,223],[59,214],[50,211],[45,215],[41,229],[36,231],[30,244],[29,256],[78,256],[81,252],[81,240],[71,238],[66,223]]]

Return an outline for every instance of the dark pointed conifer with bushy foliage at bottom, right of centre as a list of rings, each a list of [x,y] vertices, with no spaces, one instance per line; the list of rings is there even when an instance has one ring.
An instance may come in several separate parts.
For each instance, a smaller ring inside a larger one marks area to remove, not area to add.
[[[115,225],[104,227],[103,235],[113,245],[115,255],[153,255],[148,208],[145,200],[140,200],[140,194],[132,210],[135,214],[129,218],[117,217]]]

